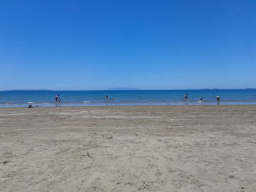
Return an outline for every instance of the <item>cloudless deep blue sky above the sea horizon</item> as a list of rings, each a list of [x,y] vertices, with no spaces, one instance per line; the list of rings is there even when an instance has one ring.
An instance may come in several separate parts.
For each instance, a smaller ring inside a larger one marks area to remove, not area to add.
[[[256,88],[256,1],[0,1],[0,90]]]

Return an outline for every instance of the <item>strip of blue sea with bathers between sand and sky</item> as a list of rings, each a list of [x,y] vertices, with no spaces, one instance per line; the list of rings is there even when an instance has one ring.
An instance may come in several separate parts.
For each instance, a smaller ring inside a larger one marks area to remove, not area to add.
[[[187,93],[188,100],[184,100]],[[132,90],[132,91],[0,91],[0,107],[56,106],[55,96],[61,97],[60,106],[105,105],[197,105],[256,104],[256,90]],[[108,95],[110,99],[105,99]],[[200,103],[199,98],[203,97]]]

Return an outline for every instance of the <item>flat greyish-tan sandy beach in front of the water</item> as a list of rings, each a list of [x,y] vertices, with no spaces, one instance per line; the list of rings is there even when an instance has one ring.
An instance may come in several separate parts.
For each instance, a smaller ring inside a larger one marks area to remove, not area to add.
[[[256,106],[2,108],[0,191],[256,191]]]

